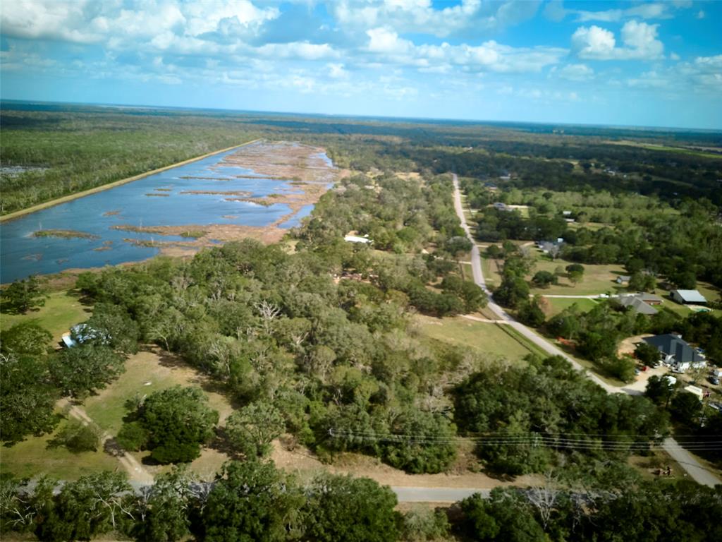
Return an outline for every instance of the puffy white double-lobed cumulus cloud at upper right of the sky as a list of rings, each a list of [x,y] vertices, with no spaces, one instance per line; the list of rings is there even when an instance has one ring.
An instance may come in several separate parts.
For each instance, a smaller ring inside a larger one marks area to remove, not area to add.
[[[593,25],[578,27],[572,35],[572,48],[581,59],[594,60],[653,60],[662,57],[664,44],[657,39],[659,25],[636,20],[622,27],[623,47],[610,30]]]

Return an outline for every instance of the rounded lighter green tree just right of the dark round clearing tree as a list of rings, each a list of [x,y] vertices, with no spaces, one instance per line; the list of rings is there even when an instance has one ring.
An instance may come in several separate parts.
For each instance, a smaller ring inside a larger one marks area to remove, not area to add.
[[[286,429],[282,413],[263,401],[236,410],[226,421],[226,435],[232,447],[245,457],[264,457],[271,442]]]

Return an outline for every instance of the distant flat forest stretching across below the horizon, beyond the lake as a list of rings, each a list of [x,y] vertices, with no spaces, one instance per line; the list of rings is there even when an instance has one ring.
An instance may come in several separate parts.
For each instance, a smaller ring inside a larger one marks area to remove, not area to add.
[[[519,188],[638,192],[722,203],[722,155],[697,150],[719,147],[716,132],[13,101],[3,102],[0,127],[7,168],[1,176],[1,214],[258,137],[323,145],[337,165],[359,171],[455,171],[482,181],[513,173],[508,184]],[[629,145],[628,139],[633,139]]]

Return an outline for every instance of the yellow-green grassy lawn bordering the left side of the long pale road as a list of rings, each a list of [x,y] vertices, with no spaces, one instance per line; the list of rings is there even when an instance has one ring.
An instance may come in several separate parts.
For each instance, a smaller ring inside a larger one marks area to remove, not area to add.
[[[503,330],[503,324],[474,322],[462,317],[433,318],[422,315],[414,317],[419,332],[426,337],[446,343],[474,348],[480,353],[503,356],[509,360],[520,359],[536,348],[513,330]]]

